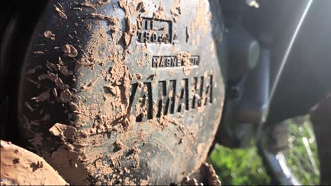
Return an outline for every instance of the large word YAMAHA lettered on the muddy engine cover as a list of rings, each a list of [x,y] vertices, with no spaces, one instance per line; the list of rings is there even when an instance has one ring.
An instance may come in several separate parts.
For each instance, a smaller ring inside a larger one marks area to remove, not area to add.
[[[152,86],[152,82],[132,85],[129,105],[137,122],[196,110],[213,103],[213,75],[159,81],[156,92]],[[153,94],[157,94],[156,100],[153,100],[156,96]],[[153,109],[155,103],[156,110]]]

